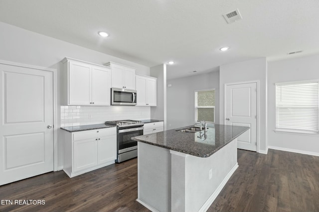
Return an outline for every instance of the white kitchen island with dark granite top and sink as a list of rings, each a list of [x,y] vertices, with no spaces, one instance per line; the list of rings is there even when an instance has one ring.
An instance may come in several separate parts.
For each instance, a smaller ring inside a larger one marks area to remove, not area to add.
[[[248,127],[184,130],[192,127],[133,138],[139,141],[137,201],[151,211],[206,211],[238,167],[237,138]]]

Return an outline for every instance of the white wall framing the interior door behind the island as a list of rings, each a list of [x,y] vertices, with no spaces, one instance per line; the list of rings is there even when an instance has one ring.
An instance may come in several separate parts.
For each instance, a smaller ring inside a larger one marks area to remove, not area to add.
[[[267,61],[260,58],[240,63],[220,66],[220,124],[224,124],[224,86],[225,83],[245,82],[259,80],[259,149],[258,152],[266,153],[267,150]]]

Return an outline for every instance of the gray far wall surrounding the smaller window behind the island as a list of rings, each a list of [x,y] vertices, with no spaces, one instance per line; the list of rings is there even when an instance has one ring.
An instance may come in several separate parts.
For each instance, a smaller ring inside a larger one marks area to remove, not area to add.
[[[195,122],[195,91],[216,89],[215,123],[219,123],[219,71],[167,80],[167,130]]]

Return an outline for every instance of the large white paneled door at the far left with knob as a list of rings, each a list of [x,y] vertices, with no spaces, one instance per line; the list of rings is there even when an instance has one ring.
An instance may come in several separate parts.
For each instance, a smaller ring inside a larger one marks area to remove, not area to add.
[[[0,185],[53,171],[53,72],[0,64]]]

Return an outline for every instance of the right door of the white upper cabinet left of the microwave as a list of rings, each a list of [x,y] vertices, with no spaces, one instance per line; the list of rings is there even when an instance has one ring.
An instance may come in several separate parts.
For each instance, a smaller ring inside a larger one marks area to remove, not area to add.
[[[92,104],[110,105],[111,70],[100,67],[92,68]]]

